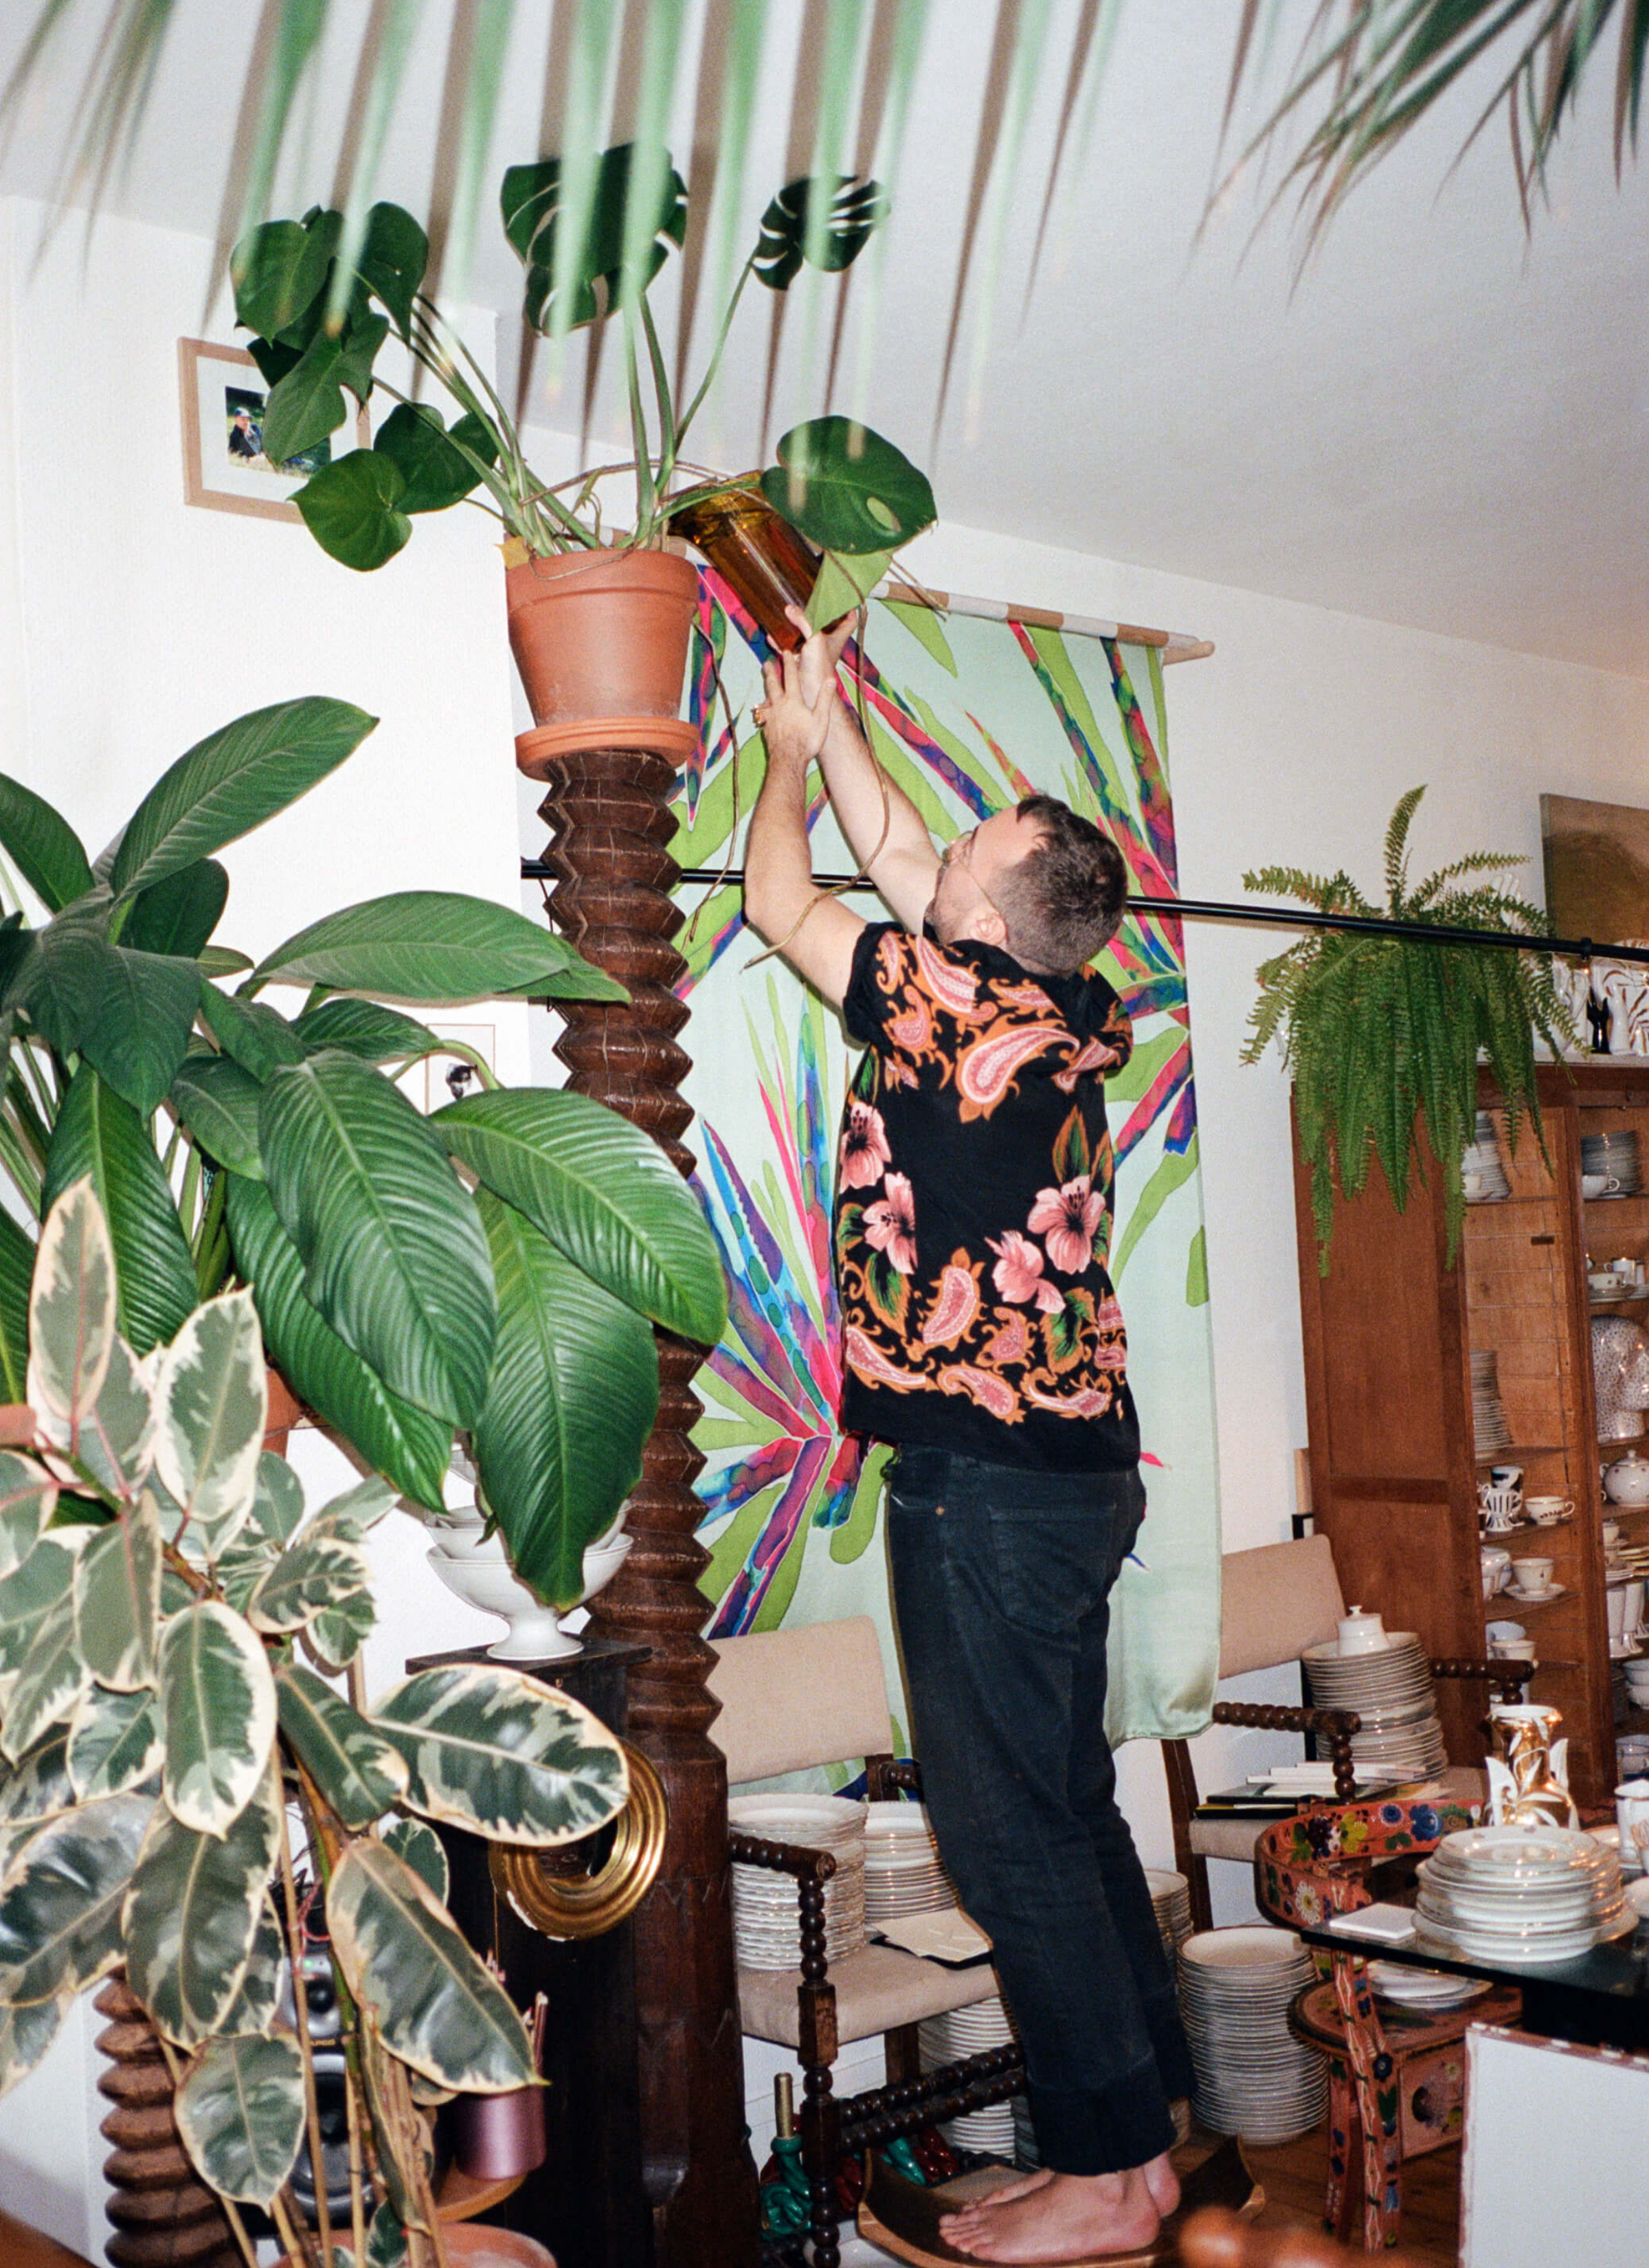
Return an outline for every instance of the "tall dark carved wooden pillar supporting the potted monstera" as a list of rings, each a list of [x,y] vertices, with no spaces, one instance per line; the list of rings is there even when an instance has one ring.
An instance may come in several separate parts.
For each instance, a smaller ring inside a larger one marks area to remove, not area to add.
[[[692,1109],[678,1084],[687,1023],[671,987],[685,962],[671,939],[680,914],[669,891],[678,866],[665,850],[676,767],[694,728],[662,721],[646,748],[565,751],[565,733],[517,739],[522,771],[549,787],[547,862],[556,875],[556,925],[628,1005],[558,1002],[556,1055],[567,1084],[653,1134],[683,1175]],[[658,1334],[658,1424],[628,1501],[635,1547],[594,1601],[606,1637],[651,1649],[631,1672],[631,1740],[658,1767],[669,1796],[669,1844],[658,1882],[635,1914],[635,2000],[642,2064],[642,2155],[653,2204],[658,2268],[746,2268],[758,2257],[755,2166],[744,2141],[744,2055],[733,1969],[728,1778],[708,1740],[717,1701],[705,1690],[701,1640],[708,1563],[696,1540],[692,1481],[703,1458],[690,1433],[701,1404],[692,1374],[705,1349]]]

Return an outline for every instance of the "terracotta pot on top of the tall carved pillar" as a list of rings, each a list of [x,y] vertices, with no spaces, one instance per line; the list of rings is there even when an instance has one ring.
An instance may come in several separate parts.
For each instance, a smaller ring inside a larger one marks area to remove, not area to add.
[[[504,585],[533,723],[678,719],[699,606],[692,560],[674,551],[528,556],[506,567]]]

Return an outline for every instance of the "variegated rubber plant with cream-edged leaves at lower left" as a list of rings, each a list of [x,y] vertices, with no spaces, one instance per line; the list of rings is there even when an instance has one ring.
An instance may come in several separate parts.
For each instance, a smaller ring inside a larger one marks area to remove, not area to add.
[[[501,1667],[367,1706],[367,1479],[315,1513],[263,1449],[247,1290],[138,1359],[93,1179],[52,1204],[29,1297],[32,1438],[0,1452],[0,2091],[116,1964],[177,2082],[184,2148],[238,2214],[320,2166],[293,1817],[324,1885],[347,2062],[352,2225],[315,2254],[433,2268],[420,2100],[533,2084],[519,2014],[447,1914],[451,1821],[549,1848],[626,1799],[619,1742]],[[345,1681],[345,1692],[338,1681]],[[324,2193],[324,2182],[318,2184]],[[347,2236],[347,2243],[345,2243]]]

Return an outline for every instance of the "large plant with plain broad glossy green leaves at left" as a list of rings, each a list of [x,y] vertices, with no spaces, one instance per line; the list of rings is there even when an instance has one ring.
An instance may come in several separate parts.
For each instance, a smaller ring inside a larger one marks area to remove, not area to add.
[[[34,1218],[91,1177],[138,1356],[238,1279],[299,1399],[401,1495],[438,1510],[463,1436],[517,1572],[567,1606],[640,1472],[651,1325],[714,1343],[726,1286],[687,1186],[603,1105],[499,1089],[479,1061],[481,1091],[431,1116],[395,1086],[449,1041],[386,998],[624,998],[560,939],[481,898],[399,891],[256,966],[211,941],[229,889],[211,853],[370,730],[324,699],[240,717],[163,773],[95,866],[0,776],[0,848],[50,909],[0,925],[0,1166]],[[261,998],[272,984],[304,987],[302,1009]],[[0,1211],[11,1402],[32,1266]]]

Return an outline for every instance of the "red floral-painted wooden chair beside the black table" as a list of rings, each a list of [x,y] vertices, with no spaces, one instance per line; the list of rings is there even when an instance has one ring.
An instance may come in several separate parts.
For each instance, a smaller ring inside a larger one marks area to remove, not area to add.
[[[1436,1851],[1474,1823],[1461,1803],[1341,1803],[1279,1819],[1254,1844],[1254,1898],[1284,1928],[1320,1930],[1384,1896],[1381,1869]],[[1322,2218],[1334,2236],[1352,2223],[1352,2168],[1363,2166],[1363,2250],[1397,2243],[1402,2161],[1458,2141],[1458,2043],[1468,2023],[1508,2023],[1517,1994],[1495,1991],[1461,2009],[1393,2009],[1381,2023],[1368,1962],[1347,1946],[1325,1984],[1288,2012],[1297,2039],[1329,2057],[1329,2189]],[[1418,2021],[1415,2021],[1418,2019]]]

